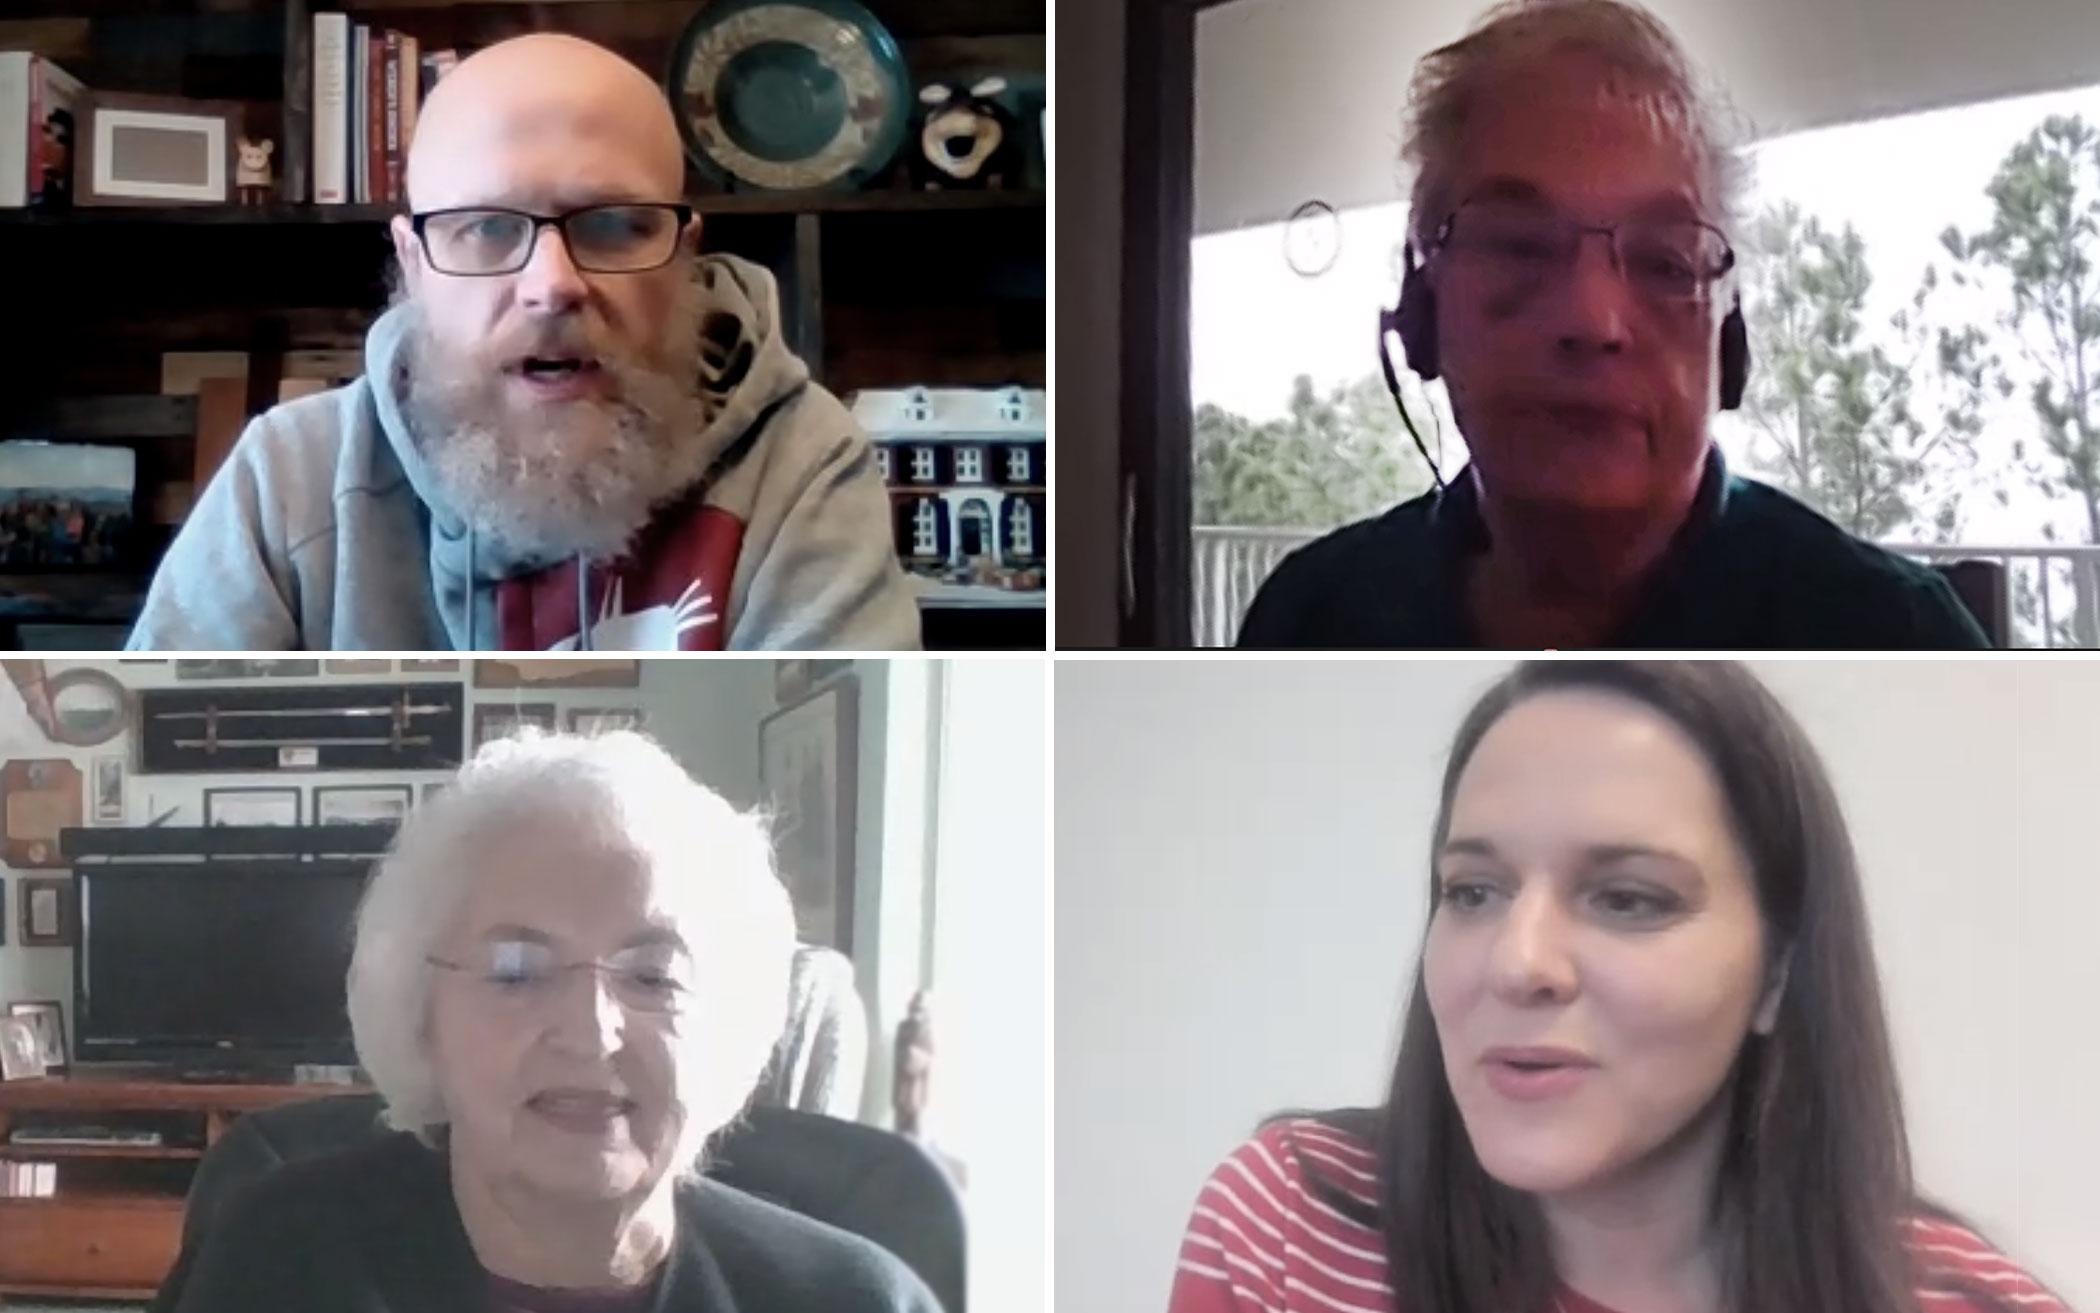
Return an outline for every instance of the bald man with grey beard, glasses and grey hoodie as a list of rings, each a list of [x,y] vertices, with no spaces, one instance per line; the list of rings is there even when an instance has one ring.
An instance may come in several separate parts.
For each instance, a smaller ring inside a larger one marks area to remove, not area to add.
[[[874,450],[701,254],[664,92],[523,36],[410,143],[365,376],[258,416],[134,649],[918,647]]]

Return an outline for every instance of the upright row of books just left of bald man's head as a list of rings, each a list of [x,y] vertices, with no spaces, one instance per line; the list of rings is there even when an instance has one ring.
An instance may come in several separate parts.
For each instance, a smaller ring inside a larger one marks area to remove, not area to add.
[[[391,206],[407,197],[403,172],[416,111],[458,50],[424,53],[414,36],[313,15],[313,200],[321,206]]]

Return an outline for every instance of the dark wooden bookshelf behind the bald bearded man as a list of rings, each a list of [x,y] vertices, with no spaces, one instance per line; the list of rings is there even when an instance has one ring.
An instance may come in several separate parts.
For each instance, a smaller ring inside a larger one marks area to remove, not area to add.
[[[1046,67],[1046,0],[867,6],[918,82]],[[662,78],[699,0],[13,0],[4,8],[0,48],[40,50],[90,88],[239,101],[260,122],[281,124],[273,137],[284,187],[269,206],[0,210],[10,292],[32,307],[10,359],[27,387],[0,405],[0,439],[128,445],[139,452],[141,489],[134,559],[0,574],[0,647],[15,647],[21,624],[120,626],[136,613],[178,529],[153,523],[149,508],[164,494],[181,500],[195,458],[195,412],[170,418],[151,405],[164,353],[246,353],[246,412],[260,414],[275,403],[288,351],[361,349],[386,303],[386,221],[399,208],[296,200],[311,147],[311,69],[296,59],[296,40],[311,34],[315,8],[414,34],[426,50],[573,32]],[[788,342],[834,393],[1048,387],[1046,193],[914,191],[901,166],[861,191],[817,193],[718,193],[689,172],[687,200],[706,216],[704,248],[775,271]],[[80,401],[116,401],[118,418],[82,412]],[[926,618],[937,645],[1044,645],[1040,609],[928,609]]]

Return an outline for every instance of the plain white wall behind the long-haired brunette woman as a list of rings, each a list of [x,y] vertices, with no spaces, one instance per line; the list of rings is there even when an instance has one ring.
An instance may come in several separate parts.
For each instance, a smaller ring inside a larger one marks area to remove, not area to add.
[[[1058,662],[1056,1290],[1155,1313],[1264,1116],[1376,1103],[1499,662]],[[2100,664],[1758,662],[1861,849],[1919,1183],[2100,1307]]]

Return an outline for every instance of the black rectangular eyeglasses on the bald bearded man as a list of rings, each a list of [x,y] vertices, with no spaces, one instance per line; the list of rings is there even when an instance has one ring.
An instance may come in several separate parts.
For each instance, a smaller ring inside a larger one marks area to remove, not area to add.
[[[410,214],[422,254],[439,273],[489,277],[531,263],[540,229],[561,229],[569,258],[586,273],[645,273],[678,254],[678,233],[693,206],[622,202],[567,214],[531,214],[498,206]]]

